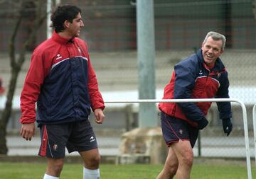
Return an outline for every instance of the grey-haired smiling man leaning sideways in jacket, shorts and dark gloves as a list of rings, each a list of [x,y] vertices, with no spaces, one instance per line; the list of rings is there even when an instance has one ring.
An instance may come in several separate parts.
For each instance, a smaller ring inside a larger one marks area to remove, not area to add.
[[[171,81],[164,88],[164,99],[229,98],[228,72],[220,60],[225,36],[209,32],[201,50],[176,64]],[[211,103],[159,103],[164,140],[169,146],[164,169],[157,179],[190,178],[193,146],[198,130],[208,125],[206,114]],[[230,102],[217,103],[223,130],[232,131]]]

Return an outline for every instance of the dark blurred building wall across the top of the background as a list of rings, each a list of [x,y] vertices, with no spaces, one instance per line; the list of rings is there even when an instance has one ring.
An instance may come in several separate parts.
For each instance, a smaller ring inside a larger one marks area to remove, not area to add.
[[[136,50],[136,6],[130,0],[73,0],[61,4],[77,4],[82,9],[85,30],[81,37],[90,50]],[[20,42],[29,33],[33,18],[33,1],[19,34]],[[227,36],[229,49],[254,49],[256,21],[251,0],[233,1],[154,1],[156,50],[191,50],[198,47],[207,31]],[[17,9],[12,1],[0,8],[0,51],[8,50]],[[46,25],[38,33],[35,46],[46,39]],[[19,45],[19,44],[18,44]],[[33,47],[31,47],[33,50]]]

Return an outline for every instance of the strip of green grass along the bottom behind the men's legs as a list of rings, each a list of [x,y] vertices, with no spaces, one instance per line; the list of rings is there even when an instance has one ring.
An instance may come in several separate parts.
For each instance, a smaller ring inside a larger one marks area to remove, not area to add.
[[[101,179],[155,179],[163,166],[136,164],[100,166]],[[46,163],[0,162],[1,179],[42,179]],[[254,168],[252,168],[253,170]],[[254,173],[254,171],[253,171]],[[252,178],[255,175],[252,174]],[[61,179],[82,179],[82,166],[78,163],[65,163]],[[244,165],[194,164],[191,178],[196,179],[245,179],[247,169]]]

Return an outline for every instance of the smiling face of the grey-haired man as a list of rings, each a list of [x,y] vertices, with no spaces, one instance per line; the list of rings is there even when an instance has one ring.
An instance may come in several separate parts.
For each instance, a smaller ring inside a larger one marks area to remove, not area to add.
[[[203,59],[208,66],[213,66],[216,59],[223,54],[222,45],[222,40],[213,40],[212,37],[202,43]]]

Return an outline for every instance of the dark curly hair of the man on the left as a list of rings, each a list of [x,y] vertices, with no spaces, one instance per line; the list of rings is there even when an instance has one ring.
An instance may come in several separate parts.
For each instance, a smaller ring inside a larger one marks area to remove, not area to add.
[[[62,32],[64,29],[63,23],[68,20],[70,23],[78,16],[78,13],[82,13],[81,9],[73,5],[63,5],[55,8],[55,11],[50,16],[50,20],[53,22],[52,26],[56,33]]]

